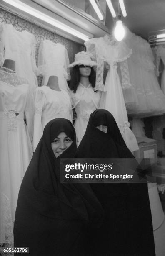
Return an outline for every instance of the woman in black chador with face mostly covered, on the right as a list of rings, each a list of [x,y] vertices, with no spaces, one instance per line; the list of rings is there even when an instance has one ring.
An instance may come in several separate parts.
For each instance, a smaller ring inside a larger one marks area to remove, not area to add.
[[[77,149],[77,158],[134,158],[115,119],[95,110]],[[147,184],[90,184],[104,211],[100,228],[91,228],[92,255],[155,256]]]

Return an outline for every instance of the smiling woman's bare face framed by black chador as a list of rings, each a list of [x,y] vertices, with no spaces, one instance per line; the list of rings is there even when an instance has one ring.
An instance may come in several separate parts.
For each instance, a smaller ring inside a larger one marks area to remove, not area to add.
[[[72,139],[69,138],[65,132],[61,132],[58,136],[52,141],[51,147],[52,151],[57,158],[62,154],[67,148],[72,144]]]

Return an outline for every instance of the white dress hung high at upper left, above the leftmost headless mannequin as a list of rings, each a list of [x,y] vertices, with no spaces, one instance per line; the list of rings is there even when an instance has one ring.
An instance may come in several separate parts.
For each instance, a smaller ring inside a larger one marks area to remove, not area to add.
[[[17,31],[12,24],[0,24],[0,64],[5,59],[15,61],[17,74],[28,80],[30,87],[37,87],[35,37],[24,30]]]

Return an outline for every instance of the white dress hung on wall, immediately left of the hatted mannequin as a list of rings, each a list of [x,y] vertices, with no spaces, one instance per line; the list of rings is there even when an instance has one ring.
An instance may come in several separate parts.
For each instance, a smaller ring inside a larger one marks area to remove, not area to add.
[[[44,40],[40,43],[38,56],[38,72],[43,75],[42,85],[47,85],[50,76],[58,77],[60,89],[67,90],[67,67],[69,58],[65,46]]]

